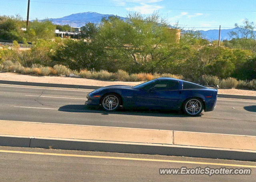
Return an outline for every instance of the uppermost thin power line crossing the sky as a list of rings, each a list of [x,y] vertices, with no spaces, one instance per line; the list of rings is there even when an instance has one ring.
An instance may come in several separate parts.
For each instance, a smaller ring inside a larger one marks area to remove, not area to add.
[[[11,0],[11,1],[20,1],[26,2],[26,0]],[[36,3],[48,3],[48,4],[67,4],[67,5],[79,5],[79,6],[99,6],[99,7],[112,7],[112,8],[132,8],[127,6],[106,6],[106,5],[95,5],[95,4],[76,4],[76,3],[64,3],[64,2],[44,2],[44,1],[31,1]],[[146,8],[145,9],[154,9]],[[214,12],[256,12],[248,10],[202,10],[202,9],[178,9],[178,8],[161,8],[160,10],[188,10],[188,11],[214,11]]]

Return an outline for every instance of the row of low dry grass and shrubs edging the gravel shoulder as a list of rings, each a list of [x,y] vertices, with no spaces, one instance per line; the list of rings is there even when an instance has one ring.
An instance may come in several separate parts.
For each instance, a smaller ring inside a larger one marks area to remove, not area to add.
[[[99,79],[99,80],[121,80],[121,81],[148,81],[153,80],[155,78],[160,77],[170,77],[176,79],[184,79],[182,75],[175,74],[150,74],[150,73],[138,73],[138,74],[128,74],[128,72],[124,70],[118,70],[116,73],[108,72],[106,70],[100,71],[88,71],[81,70],[80,72],[74,70],[71,71],[69,68],[63,65],[55,65],[53,68],[51,67],[43,67],[39,64],[33,64],[31,68],[25,68],[20,63],[13,63],[12,61],[4,61],[0,64],[0,70],[5,72],[17,72],[24,74],[36,74],[36,75],[68,75],[70,73],[76,75],[76,77],[82,78],[91,78],[91,79]],[[189,78],[186,78],[187,81]],[[237,81],[235,78],[227,78],[220,80],[217,76],[211,75],[203,75],[200,79],[201,84],[206,84],[209,86],[219,85],[220,88],[250,88],[256,90],[256,79],[251,81],[239,80]]]

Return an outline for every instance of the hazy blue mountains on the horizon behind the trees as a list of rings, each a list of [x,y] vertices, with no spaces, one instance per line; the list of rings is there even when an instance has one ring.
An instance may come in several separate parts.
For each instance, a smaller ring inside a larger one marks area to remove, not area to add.
[[[50,18],[48,20],[52,21],[54,24],[58,24],[58,25],[71,25],[72,23],[72,27],[82,27],[84,26],[86,23],[91,22],[91,23],[100,23],[102,18],[106,18],[108,19],[110,16],[116,16],[113,14],[99,14],[96,12],[84,12],[84,13],[77,13],[77,14],[71,14],[69,16],[64,16],[62,18]],[[127,18],[121,17],[121,16],[117,16],[119,18],[121,18],[122,20],[126,20]],[[222,29],[221,30],[221,39],[230,39],[230,36],[228,35],[228,33],[230,33],[231,31],[235,31],[236,28],[234,29]],[[206,39],[209,40],[217,40],[218,36],[219,36],[219,30],[218,29],[212,29],[212,30],[207,30],[207,31],[203,31],[200,30],[200,32],[202,33],[202,35],[204,35],[206,37]]]

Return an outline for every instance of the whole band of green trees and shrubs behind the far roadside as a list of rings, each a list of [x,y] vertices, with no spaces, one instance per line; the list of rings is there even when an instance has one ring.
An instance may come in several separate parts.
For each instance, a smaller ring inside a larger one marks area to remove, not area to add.
[[[178,75],[206,85],[255,89],[255,24],[248,20],[244,23],[238,29],[241,32],[233,32],[233,39],[217,47],[198,31],[187,31],[178,40],[158,14],[134,13],[126,21],[113,16],[100,25],[87,23],[81,39],[54,37],[56,25],[47,20],[32,22],[27,31],[22,31],[24,22],[19,18],[0,17],[0,39],[14,40],[12,49],[0,49],[0,68],[26,74],[119,80]],[[16,41],[32,41],[33,46],[20,51]]]

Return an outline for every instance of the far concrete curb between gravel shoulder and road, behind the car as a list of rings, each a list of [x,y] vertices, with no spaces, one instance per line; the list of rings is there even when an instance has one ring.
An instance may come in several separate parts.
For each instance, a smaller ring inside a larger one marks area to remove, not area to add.
[[[7,81],[7,80],[0,80],[0,84],[26,85],[26,86],[46,86],[46,87],[57,87],[57,88],[81,88],[81,89],[92,89],[92,90],[102,88],[102,86],[54,84],[54,83],[36,83],[36,82],[18,82],[18,81]],[[219,98],[236,98],[236,99],[256,100],[256,96],[240,96],[240,95],[230,95],[230,94],[218,94],[218,97]]]

